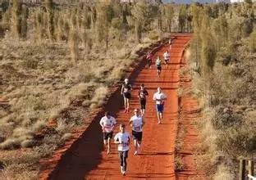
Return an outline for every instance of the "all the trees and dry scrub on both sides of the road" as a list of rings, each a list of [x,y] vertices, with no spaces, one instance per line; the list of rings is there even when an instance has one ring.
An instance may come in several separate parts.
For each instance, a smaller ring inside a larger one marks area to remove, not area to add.
[[[2,1],[0,98],[9,105],[0,106],[0,178],[37,179],[39,160],[90,123],[84,119],[140,48],[194,32],[188,50],[203,110],[199,164],[215,179],[233,179],[235,159],[256,150],[255,9],[250,1]]]

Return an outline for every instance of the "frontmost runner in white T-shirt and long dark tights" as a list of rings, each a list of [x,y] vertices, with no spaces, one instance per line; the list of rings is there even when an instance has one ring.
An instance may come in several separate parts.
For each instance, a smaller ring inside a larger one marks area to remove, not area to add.
[[[120,132],[114,137],[115,143],[118,144],[117,151],[120,159],[121,174],[126,175],[128,151],[130,144],[130,134],[126,133],[126,125],[120,124]]]

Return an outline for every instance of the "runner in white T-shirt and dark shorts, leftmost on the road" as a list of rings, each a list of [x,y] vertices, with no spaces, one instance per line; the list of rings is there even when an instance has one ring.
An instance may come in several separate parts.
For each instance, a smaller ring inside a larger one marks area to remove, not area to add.
[[[103,143],[107,146],[107,155],[110,153],[111,143],[110,140],[113,137],[113,128],[117,121],[113,118],[109,112],[105,112],[105,116],[99,121],[100,126],[103,129]]]

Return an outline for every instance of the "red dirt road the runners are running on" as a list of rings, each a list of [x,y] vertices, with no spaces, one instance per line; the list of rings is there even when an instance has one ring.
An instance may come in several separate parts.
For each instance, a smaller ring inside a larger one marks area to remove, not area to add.
[[[133,79],[131,110],[139,107],[137,93],[140,83],[144,83],[149,91],[147,110],[145,115],[145,126],[143,134],[143,146],[139,155],[135,156],[133,146],[130,146],[128,169],[126,177],[122,177],[120,173],[120,165],[117,157],[117,147],[112,146],[112,154],[106,155],[103,151],[102,133],[100,131],[98,120],[95,120],[83,136],[79,143],[72,146],[72,150],[62,157],[62,160],[57,164],[57,168],[51,174],[50,179],[188,179],[195,178],[197,172],[194,170],[193,148],[192,143],[197,142],[197,134],[190,120],[191,108],[196,108],[196,102],[188,100],[190,97],[185,97],[181,105],[184,106],[185,114],[184,123],[186,133],[184,146],[180,153],[182,160],[185,160],[184,172],[175,172],[175,141],[178,127],[178,98],[176,89],[180,83],[179,70],[181,68],[182,52],[185,45],[190,41],[189,35],[177,35],[173,40],[171,48],[171,65],[167,68],[164,65],[162,74],[158,78],[155,67],[153,69],[144,68],[135,75]],[[162,56],[163,52],[169,47],[162,47],[156,56]],[[162,87],[164,93],[167,94],[167,102],[163,123],[158,125],[155,105],[152,101],[153,93],[157,87]],[[106,109],[112,111],[117,117],[118,123],[126,123],[130,119],[132,112],[125,114],[121,109],[121,104],[117,103],[121,100],[121,95],[116,93],[117,101],[107,103]],[[192,103],[192,104],[191,104]],[[194,104],[195,103],[195,104]],[[192,106],[192,107],[190,107]],[[130,111],[131,111],[130,110]],[[181,115],[182,116],[182,115]],[[191,117],[192,120],[194,117]],[[184,121],[184,120],[183,120]],[[189,126],[187,126],[189,124]],[[192,124],[193,125],[193,124]],[[128,128],[130,132],[130,127]],[[117,128],[115,129],[117,133]],[[190,134],[190,131],[192,134]],[[192,136],[192,139],[191,139]],[[132,144],[131,144],[132,145]]]

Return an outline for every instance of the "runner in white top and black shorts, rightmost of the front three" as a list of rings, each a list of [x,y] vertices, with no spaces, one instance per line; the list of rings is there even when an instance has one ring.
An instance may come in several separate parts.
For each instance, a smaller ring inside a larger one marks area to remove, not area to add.
[[[144,126],[143,117],[139,115],[138,109],[135,109],[135,115],[130,118],[129,124],[132,128],[132,137],[135,142],[135,155],[138,155],[142,140],[142,127]]]

